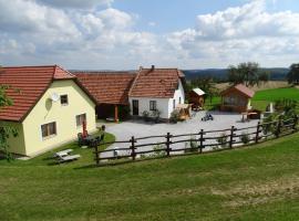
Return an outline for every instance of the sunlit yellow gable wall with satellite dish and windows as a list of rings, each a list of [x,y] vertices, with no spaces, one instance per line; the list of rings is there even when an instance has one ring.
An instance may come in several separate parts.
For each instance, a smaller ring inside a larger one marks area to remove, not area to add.
[[[52,102],[49,97],[53,93],[68,94],[69,105],[62,106],[60,101]],[[94,131],[96,129],[94,106],[95,104],[73,81],[54,81],[22,123],[25,155],[38,155],[76,138],[78,133],[82,133],[82,126],[76,127],[76,115],[86,114],[87,130]],[[41,125],[52,122],[56,123],[56,135],[43,139]]]

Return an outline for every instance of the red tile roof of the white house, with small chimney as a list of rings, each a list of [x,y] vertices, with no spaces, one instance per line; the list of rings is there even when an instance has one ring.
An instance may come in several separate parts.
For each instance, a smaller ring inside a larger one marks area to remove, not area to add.
[[[133,97],[171,98],[184,74],[177,69],[141,69],[130,91]]]

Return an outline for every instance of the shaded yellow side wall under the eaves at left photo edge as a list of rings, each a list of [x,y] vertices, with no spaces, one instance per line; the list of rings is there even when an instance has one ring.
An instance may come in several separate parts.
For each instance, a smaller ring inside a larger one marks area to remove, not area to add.
[[[9,150],[14,154],[25,155],[24,134],[22,124],[14,122],[0,122],[0,125],[13,127],[18,130],[17,137],[10,135],[8,139]]]

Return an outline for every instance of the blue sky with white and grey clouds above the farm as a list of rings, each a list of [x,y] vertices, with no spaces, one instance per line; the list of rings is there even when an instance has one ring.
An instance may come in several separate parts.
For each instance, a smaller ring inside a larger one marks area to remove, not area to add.
[[[298,0],[0,0],[0,65],[287,67],[298,27]]]

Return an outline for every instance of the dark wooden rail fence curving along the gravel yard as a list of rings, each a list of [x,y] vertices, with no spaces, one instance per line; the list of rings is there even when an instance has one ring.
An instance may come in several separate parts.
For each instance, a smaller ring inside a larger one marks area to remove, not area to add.
[[[100,166],[102,164],[106,164],[110,160],[116,159],[131,159],[136,160],[137,156],[145,156],[148,154],[164,152],[165,156],[169,157],[172,154],[179,155],[179,151],[185,154],[186,151],[198,152],[203,154],[204,149],[209,147],[219,147],[221,149],[231,149],[234,146],[243,146],[244,144],[258,144],[260,140],[267,140],[269,138],[278,138],[280,136],[289,135],[297,131],[298,127],[298,116],[290,118],[290,119],[279,119],[269,123],[258,123],[257,126],[251,127],[244,127],[244,128],[236,128],[231,126],[227,129],[220,130],[207,130],[200,129],[198,133],[194,134],[182,134],[182,135],[172,135],[167,133],[166,135],[158,135],[158,136],[148,136],[148,137],[140,137],[136,138],[134,136],[131,137],[130,140],[120,140],[120,141],[112,141],[112,143],[102,143],[94,147],[95,154],[95,161],[96,165]],[[245,133],[247,130],[247,133]],[[252,130],[248,133],[248,130]],[[239,134],[238,134],[239,133]],[[218,136],[215,136],[218,134]],[[220,134],[220,136],[219,136]],[[247,136],[247,141],[245,143],[241,140],[241,137]],[[145,143],[138,144],[141,140],[148,140],[148,139],[162,139],[162,141],[157,143]],[[219,141],[220,140],[220,141]],[[213,143],[214,141],[214,143]],[[190,147],[185,148],[173,148],[175,144],[185,143],[186,144],[196,144],[195,147],[190,145]],[[117,148],[117,152],[125,151],[124,155],[115,155],[115,149],[105,149],[100,150],[101,146],[107,145],[115,145],[115,144],[123,144],[127,145],[128,147]],[[163,148],[153,148],[153,147],[161,147]],[[150,149],[144,149],[145,147],[151,147]],[[215,149],[210,149],[208,151],[215,151]],[[111,156],[105,156],[111,155]],[[151,156],[153,157],[153,155]],[[142,158],[142,157],[140,157]],[[146,158],[146,157],[145,157]]]

